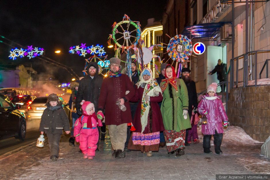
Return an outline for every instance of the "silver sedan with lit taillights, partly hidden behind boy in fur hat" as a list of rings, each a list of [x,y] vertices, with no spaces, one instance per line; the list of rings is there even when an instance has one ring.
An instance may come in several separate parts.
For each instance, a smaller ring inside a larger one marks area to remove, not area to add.
[[[47,106],[45,106],[47,99],[48,99],[48,97],[37,97],[33,100],[33,102],[27,108],[28,109],[28,111],[27,111],[28,121],[41,119],[43,111],[47,108]],[[67,114],[67,117],[68,117],[70,123],[72,124],[70,108],[64,102],[64,100],[62,98],[59,98],[59,100],[60,100],[60,102],[62,102],[62,106],[65,110],[65,113]]]

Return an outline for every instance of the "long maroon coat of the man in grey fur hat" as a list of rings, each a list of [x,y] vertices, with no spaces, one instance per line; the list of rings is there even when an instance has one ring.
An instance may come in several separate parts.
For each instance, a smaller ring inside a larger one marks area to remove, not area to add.
[[[126,91],[130,91],[126,95]],[[134,96],[135,90],[130,78],[126,74],[120,77],[107,77],[103,80],[101,91],[99,95],[98,110],[102,111],[105,106],[105,124],[106,125],[120,125],[123,123],[131,123],[131,110],[129,100]],[[127,110],[121,111],[116,105],[117,98],[126,98],[124,103]]]

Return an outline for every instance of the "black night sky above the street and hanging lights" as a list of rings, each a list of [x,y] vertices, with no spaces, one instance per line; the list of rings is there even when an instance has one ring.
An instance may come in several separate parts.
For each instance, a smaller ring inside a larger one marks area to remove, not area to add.
[[[0,35],[21,44],[24,47],[33,45],[45,49],[45,56],[71,67],[78,76],[86,57],[69,54],[71,46],[86,43],[86,46],[102,44],[105,46],[108,59],[114,56],[113,49],[107,48],[107,39],[111,34],[113,23],[120,22],[127,14],[131,20],[140,21],[141,29],[147,19],[162,18],[166,1],[1,1],[0,2]],[[6,39],[1,41],[21,48]],[[55,76],[59,82],[69,81],[72,76],[64,70],[46,63],[43,60],[27,57],[9,59],[12,47],[0,43],[1,64],[32,63],[33,68],[41,73]],[[60,49],[62,54],[55,54]]]

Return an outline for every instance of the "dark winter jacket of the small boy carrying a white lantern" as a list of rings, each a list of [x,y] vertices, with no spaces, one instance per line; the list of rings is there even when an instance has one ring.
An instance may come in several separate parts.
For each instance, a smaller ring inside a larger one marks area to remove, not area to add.
[[[46,105],[47,108],[41,116],[39,131],[44,131],[46,134],[62,134],[63,129],[69,131],[69,120],[61,104],[57,104],[57,106],[61,107],[55,110],[51,109],[49,104]]]

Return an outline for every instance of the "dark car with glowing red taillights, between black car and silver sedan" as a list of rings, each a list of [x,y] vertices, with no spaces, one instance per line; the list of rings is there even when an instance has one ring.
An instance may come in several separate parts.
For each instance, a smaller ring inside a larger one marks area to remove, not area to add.
[[[13,96],[11,102],[13,104],[20,104],[21,108],[19,109],[22,113],[27,113],[27,107],[32,103],[32,101],[35,99],[35,96],[31,95],[16,95]]]

